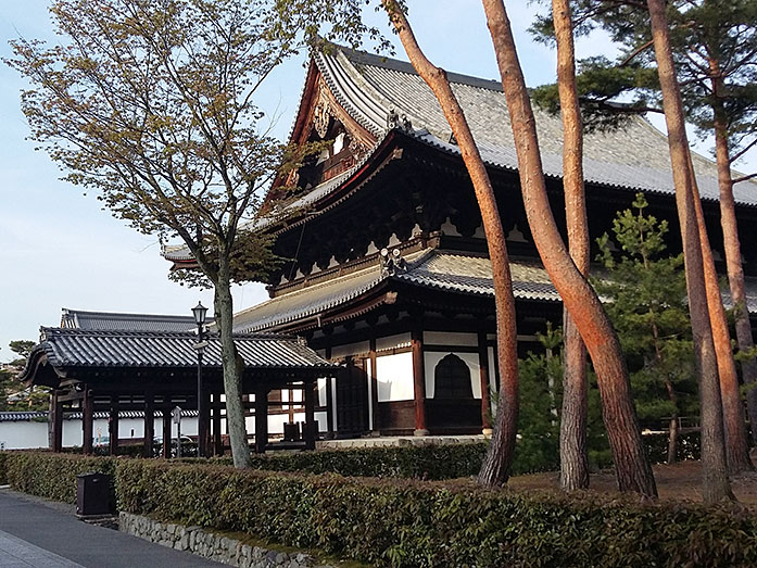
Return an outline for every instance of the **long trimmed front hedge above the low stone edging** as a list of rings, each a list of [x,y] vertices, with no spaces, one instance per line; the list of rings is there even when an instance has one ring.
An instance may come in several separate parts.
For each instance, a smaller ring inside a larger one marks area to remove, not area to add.
[[[737,506],[138,459],[116,479],[128,513],[378,566],[757,566],[757,518]]]

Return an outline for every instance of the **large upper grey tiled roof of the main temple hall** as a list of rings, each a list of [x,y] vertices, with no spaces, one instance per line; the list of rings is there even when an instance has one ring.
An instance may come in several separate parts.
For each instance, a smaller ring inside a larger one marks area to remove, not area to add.
[[[405,62],[336,48],[318,53],[316,64],[339,103],[366,129],[381,139],[387,115],[406,115],[415,136],[443,151],[459,153],[447,141],[451,129],[431,89]],[[517,169],[509,115],[499,81],[449,74],[453,90],[470,124],[481,155],[489,164]],[[559,116],[534,108],[544,173],[563,175],[563,126]],[[715,164],[694,154],[699,191],[705,200],[718,200]],[[624,128],[591,132],[584,140],[586,181],[633,191],[673,193],[668,142],[665,135],[642,117]],[[757,181],[734,187],[736,202],[757,206]]]

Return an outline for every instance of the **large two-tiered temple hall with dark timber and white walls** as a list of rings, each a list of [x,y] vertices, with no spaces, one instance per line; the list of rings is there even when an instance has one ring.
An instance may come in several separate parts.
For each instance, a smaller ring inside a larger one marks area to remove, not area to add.
[[[500,84],[449,78],[496,193],[523,355],[546,321],[562,323],[560,299],[529,232]],[[562,123],[539,110],[537,123],[565,236]],[[328,429],[340,437],[485,432],[497,384],[491,264],[472,186],[431,90],[401,61],[338,47],[316,53],[290,140],[332,146],[286,180],[293,193],[278,189],[285,184],[270,191],[269,206],[286,220],[266,230],[291,262],[270,275],[268,301],[236,315],[236,331],[295,333],[342,365],[327,387],[336,409]],[[724,272],[716,166],[693,160]],[[680,252],[667,138],[646,119],[588,134],[584,175],[592,243],[642,191],[649,213],[670,223],[669,250]],[[742,242],[755,242],[757,184],[734,193]],[[757,248],[743,251],[757,316]],[[175,268],[191,264],[180,250],[166,257]]]

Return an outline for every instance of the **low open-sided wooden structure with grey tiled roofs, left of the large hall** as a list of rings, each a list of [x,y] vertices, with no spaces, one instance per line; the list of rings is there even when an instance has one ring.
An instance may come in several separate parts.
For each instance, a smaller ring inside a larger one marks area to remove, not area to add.
[[[328,424],[333,411],[325,389],[335,366],[290,335],[236,333],[235,343],[244,362],[241,388],[255,450],[270,449],[272,438],[285,438],[277,447],[314,449],[312,425]],[[63,308],[60,327],[40,328],[18,379],[50,389],[45,417],[56,452],[73,444],[91,454],[101,445],[115,455],[137,438],[144,456],[153,456],[160,442],[168,457],[179,436],[177,413],[188,418],[181,432],[202,438],[205,455],[228,446],[220,341],[211,332],[199,343],[192,316]],[[41,417],[23,414],[29,413],[0,416],[0,442],[13,434],[12,422]],[[66,425],[72,419],[78,432]],[[141,425],[135,428],[136,419]]]

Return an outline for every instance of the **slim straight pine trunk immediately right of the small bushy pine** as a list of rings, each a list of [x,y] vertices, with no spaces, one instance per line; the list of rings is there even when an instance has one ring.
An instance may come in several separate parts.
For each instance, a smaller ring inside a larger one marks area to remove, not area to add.
[[[676,76],[665,0],[647,0],[652,22],[657,71],[663,91],[668,144],[676,185],[676,203],[681,224],[689,310],[699,377],[702,422],[702,496],[705,503],[732,498],[728,479],[723,440],[722,405],[718,384],[718,365],[707,306],[699,227],[694,205],[694,182],[683,118],[683,104]]]

